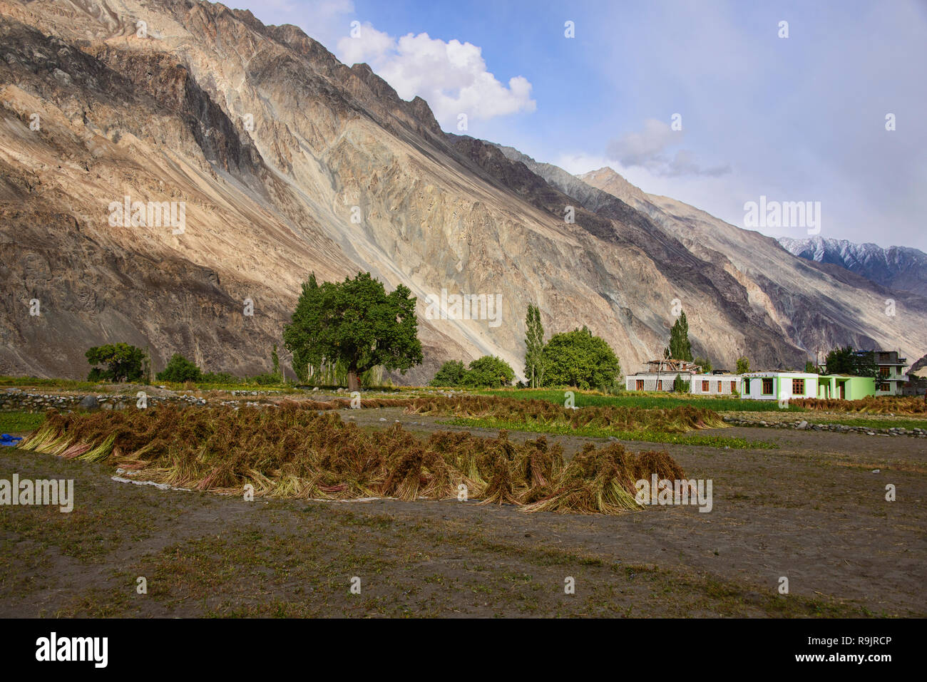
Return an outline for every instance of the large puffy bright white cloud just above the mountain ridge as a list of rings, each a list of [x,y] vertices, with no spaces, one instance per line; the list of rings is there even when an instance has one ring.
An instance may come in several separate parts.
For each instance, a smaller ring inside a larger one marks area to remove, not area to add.
[[[346,64],[368,63],[403,99],[425,99],[446,130],[456,132],[459,114],[489,120],[537,107],[531,83],[522,76],[510,78],[507,85],[500,82],[474,44],[446,43],[427,33],[396,40],[365,23],[358,37],[338,41],[336,54]]]

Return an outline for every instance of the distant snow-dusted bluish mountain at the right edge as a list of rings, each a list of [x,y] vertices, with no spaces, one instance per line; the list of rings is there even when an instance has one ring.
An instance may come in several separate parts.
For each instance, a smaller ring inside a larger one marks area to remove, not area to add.
[[[890,289],[927,296],[927,253],[917,248],[883,248],[819,236],[806,239],[780,237],[779,243],[793,256],[839,265]]]

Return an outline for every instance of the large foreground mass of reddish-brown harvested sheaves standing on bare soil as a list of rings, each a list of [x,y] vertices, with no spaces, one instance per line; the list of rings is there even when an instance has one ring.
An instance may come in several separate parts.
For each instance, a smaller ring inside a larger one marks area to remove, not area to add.
[[[565,462],[545,437],[518,443],[504,431],[495,438],[441,431],[423,442],[400,425],[371,433],[293,402],[265,410],[49,412],[21,448],[225,494],[248,485],[259,497],[298,499],[449,499],[465,491],[525,512],[637,510],[635,481],[685,478],[666,452],[590,443]]]

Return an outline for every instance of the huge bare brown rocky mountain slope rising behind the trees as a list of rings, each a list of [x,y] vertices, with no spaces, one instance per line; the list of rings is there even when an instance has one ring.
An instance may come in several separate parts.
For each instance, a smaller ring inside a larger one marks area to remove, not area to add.
[[[826,340],[927,347],[923,298],[897,294],[886,323],[889,290],[852,273],[442,133],[424,100],[296,27],[192,0],[0,12],[0,373],[83,376],[86,347],[121,340],[157,369],[179,351],[266,371],[308,273],[358,270],[419,298],[408,382],[486,353],[520,371],[530,302],[548,335],[587,324],[628,372],[666,345],[676,299],[716,364],[800,366]],[[183,231],[114,221],[125,196],[182,202]],[[428,319],[442,289],[502,295],[501,323]]]

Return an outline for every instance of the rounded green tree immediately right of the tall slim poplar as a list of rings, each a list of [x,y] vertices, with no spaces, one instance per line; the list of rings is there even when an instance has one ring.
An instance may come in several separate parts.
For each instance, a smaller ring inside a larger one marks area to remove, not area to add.
[[[544,346],[544,382],[578,388],[611,388],[621,365],[603,338],[586,328],[555,334]]]

